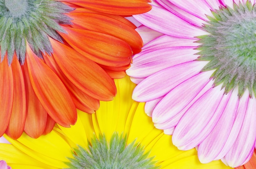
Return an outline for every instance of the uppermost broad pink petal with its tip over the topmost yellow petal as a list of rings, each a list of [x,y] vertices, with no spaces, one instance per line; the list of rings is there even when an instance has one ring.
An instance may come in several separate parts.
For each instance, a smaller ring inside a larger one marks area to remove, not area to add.
[[[132,99],[146,102],[163,97],[175,86],[198,74],[206,64],[207,61],[190,61],[156,72],[135,87]]]

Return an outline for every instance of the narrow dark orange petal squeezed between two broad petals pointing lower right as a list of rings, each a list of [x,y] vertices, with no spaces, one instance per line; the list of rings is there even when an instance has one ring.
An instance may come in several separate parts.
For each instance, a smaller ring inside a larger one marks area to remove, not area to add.
[[[79,88],[77,88],[69,79],[67,79],[59,66],[56,64],[56,61],[53,57],[50,57],[46,54],[43,55],[43,58],[45,60],[45,63],[58,75],[61,81],[63,81],[67,90],[70,92],[76,108],[87,113],[94,113],[95,110],[99,109],[99,100],[88,96]]]

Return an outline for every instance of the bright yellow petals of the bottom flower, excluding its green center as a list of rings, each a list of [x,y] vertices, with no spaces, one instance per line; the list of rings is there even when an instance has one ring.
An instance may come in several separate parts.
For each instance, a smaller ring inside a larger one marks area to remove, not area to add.
[[[220,160],[201,164],[196,149],[178,150],[172,145],[171,136],[154,127],[144,112],[144,103],[131,99],[135,84],[129,77],[117,79],[115,84],[115,99],[102,101],[95,114],[79,111],[77,122],[71,128],[55,125],[52,132],[37,139],[25,133],[17,140],[4,135],[11,144],[0,144],[0,159],[12,169],[68,168],[69,158],[74,158],[78,146],[88,150],[94,136],[104,135],[109,143],[113,133],[118,133],[127,136],[126,146],[135,141],[145,154],[149,152],[146,158],[153,157],[154,165],[161,169],[229,169]]]

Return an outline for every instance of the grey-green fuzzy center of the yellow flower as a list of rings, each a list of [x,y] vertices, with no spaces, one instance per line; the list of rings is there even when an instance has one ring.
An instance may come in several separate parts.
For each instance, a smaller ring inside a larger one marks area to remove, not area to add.
[[[74,150],[74,158],[69,158],[67,165],[70,169],[157,169],[152,161],[147,158],[148,153],[144,153],[143,148],[133,141],[126,146],[126,137],[112,135],[110,143],[106,137],[95,136],[92,139],[88,151],[79,146]]]

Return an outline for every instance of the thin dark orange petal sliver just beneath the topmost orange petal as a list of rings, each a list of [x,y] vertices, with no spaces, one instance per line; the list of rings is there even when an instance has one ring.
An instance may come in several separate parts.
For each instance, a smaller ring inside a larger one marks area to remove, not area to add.
[[[99,15],[108,16],[109,18],[113,18],[115,20],[119,20],[120,22],[123,22],[124,24],[127,24],[128,26],[130,26],[132,29],[137,28],[137,26],[135,26],[132,22],[130,22],[129,20],[127,20],[126,18],[124,18],[120,15],[112,15],[112,14],[108,14],[108,13],[102,13],[99,11],[94,11],[94,10],[86,9],[86,8],[76,8],[74,11],[72,11],[70,13],[96,13]]]

